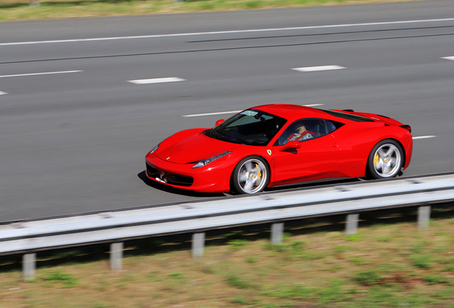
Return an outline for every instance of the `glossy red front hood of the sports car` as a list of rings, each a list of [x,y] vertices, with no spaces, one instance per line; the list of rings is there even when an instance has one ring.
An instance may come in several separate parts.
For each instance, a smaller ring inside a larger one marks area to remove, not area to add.
[[[192,163],[233,150],[238,146],[241,145],[213,139],[199,132],[172,140],[172,144],[163,150],[158,150],[156,156],[171,163]]]

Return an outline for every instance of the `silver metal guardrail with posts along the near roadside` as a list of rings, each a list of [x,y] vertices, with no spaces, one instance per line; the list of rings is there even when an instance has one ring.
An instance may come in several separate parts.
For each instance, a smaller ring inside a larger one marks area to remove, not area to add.
[[[24,253],[24,278],[33,279],[39,250],[113,242],[111,266],[120,270],[124,240],[192,232],[193,256],[200,257],[203,232],[218,227],[271,222],[271,242],[278,243],[285,220],[344,213],[346,233],[355,234],[358,212],[420,205],[418,223],[424,229],[428,205],[452,200],[454,173],[447,173],[14,222],[0,225],[0,255]]]

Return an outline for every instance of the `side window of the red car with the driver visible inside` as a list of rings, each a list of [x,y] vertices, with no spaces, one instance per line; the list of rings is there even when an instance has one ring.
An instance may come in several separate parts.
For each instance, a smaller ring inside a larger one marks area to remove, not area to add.
[[[296,120],[284,130],[275,145],[285,145],[288,141],[302,142],[322,137],[328,134],[327,122],[323,119]]]

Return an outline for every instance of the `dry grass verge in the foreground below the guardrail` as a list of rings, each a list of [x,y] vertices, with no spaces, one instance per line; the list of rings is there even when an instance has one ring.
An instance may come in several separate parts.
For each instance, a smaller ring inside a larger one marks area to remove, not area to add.
[[[108,246],[41,252],[31,282],[4,257],[0,307],[454,308],[453,207],[425,232],[408,214],[362,221],[354,240],[343,216],[288,222],[281,245],[269,226],[208,233],[200,259],[189,235],[126,242],[122,272]]]

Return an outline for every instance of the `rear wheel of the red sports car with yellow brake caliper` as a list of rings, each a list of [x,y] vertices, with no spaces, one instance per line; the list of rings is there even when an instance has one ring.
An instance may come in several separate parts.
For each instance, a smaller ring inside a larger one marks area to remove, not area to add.
[[[402,170],[403,160],[404,153],[397,141],[381,140],[369,154],[368,178],[395,178]]]

